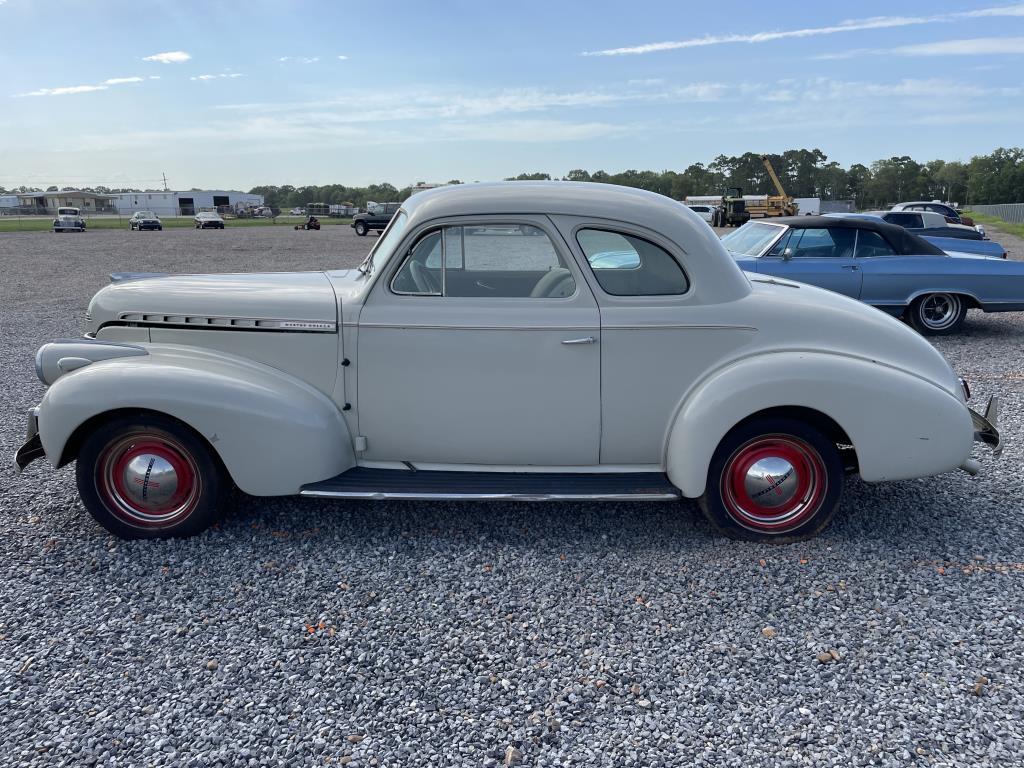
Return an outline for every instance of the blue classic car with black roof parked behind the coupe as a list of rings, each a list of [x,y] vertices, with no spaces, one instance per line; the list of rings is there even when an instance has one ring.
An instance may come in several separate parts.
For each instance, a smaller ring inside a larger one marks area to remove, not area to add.
[[[722,243],[746,271],[852,296],[923,334],[955,332],[972,308],[1024,311],[1024,262],[949,255],[873,217],[750,221]]]

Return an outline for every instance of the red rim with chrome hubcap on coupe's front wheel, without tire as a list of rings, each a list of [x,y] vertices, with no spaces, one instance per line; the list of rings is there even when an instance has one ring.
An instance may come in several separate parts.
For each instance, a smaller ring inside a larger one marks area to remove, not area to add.
[[[139,432],[113,440],[96,463],[96,490],[122,522],[162,528],[193,513],[202,479],[188,451],[172,436]]]

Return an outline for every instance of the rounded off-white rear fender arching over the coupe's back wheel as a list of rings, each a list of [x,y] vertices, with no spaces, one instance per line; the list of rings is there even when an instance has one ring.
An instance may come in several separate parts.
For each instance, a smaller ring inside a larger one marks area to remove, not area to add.
[[[669,478],[684,496],[699,497],[729,430],[779,408],[811,409],[836,422],[868,482],[956,469],[974,441],[966,404],[927,379],[839,353],[771,352],[713,372],[687,393],[669,431]]]

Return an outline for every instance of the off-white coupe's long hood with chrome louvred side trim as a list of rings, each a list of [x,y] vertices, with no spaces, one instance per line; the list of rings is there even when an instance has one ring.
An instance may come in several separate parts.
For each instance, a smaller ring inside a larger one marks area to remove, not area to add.
[[[116,274],[89,303],[89,331],[159,325],[334,330],[338,304],[324,272]]]

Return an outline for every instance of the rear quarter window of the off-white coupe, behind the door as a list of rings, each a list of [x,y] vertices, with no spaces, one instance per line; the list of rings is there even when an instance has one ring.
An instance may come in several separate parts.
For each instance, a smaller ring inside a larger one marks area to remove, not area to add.
[[[612,296],[678,296],[689,290],[679,262],[646,240],[604,229],[581,229],[577,243],[601,289]]]

